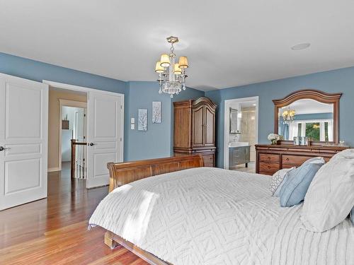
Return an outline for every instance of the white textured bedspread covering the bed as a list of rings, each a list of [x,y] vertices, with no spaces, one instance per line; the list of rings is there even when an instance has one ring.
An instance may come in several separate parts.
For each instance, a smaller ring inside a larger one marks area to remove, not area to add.
[[[280,208],[270,177],[200,167],[132,182],[91,216],[172,264],[353,265],[354,225],[302,228],[302,205]]]

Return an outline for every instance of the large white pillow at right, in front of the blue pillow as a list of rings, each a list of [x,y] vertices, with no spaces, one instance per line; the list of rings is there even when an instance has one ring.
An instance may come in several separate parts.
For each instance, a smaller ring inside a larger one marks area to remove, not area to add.
[[[333,156],[314,176],[301,212],[301,220],[307,230],[329,230],[352,211],[354,159],[348,155],[350,153],[354,154],[353,151],[347,151]]]

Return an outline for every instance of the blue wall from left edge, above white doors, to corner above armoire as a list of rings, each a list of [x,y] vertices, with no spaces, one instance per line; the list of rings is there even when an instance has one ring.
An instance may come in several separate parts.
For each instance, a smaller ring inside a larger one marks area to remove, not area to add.
[[[173,100],[159,94],[156,82],[120,81],[91,73],[67,69],[0,52],[0,73],[42,82],[42,80],[67,83],[125,94],[124,160],[161,158],[172,153],[173,101],[198,98],[204,92],[187,88]],[[152,101],[161,101],[162,122],[152,124]],[[137,131],[137,110],[148,110],[147,131]],[[130,118],[135,118],[135,130],[130,129]],[[171,131],[172,130],[172,131]]]

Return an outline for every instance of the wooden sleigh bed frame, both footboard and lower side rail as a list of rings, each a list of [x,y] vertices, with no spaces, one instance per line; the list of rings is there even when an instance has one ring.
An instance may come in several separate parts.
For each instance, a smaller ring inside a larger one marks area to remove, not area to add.
[[[135,180],[203,166],[204,163],[202,155],[176,156],[171,158],[157,158],[126,163],[108,163],[107,167],[110,172],[109,192],[112,192],[116,187],[134,182]],[[108,245],[111,249],[122,245],[137,256],[149,262],[149,264],[170,264],[169,262],[159,259],[153,254],[140,249],[131,242],[122,239],[119,235],[115,235],[113,232],[108,230],[105,232],[105,245]]]

